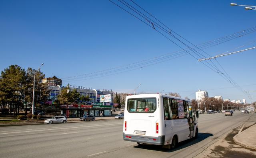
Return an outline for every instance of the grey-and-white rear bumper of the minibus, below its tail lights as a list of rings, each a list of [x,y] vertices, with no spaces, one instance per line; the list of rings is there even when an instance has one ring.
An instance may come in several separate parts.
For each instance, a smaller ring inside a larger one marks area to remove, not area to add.
[[[164,135],[158,137],[147,137],[142,135],[126,135],[123,133],[124,140],[140,142],[145,144],[164,145]]]

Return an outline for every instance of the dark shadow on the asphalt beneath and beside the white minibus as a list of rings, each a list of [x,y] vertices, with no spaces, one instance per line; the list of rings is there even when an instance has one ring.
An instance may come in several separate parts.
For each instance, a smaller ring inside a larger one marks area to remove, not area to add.
[[[192,146],[208,137],[214,136],[212,133],[198,133],[198,137],[195,138],[190,138],[188,140],[184,140],[182,142],[178,143],[178,146],[175,149],[168,149],[168,148],[164,148],[160,145],[137,145],[134,146],[134,148],[141,148],[141,149],[146,149],[146,150],[156,150],[156,151],[162,151],[162,152],[174,152],[176,150],[180,150],[182,148],[186,148],[188,146]]]

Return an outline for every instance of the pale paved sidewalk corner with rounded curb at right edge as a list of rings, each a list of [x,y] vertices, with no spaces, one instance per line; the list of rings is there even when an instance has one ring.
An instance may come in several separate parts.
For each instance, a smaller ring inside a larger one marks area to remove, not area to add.
[[[233,140],[236,144],[256,150],[256,125],[238,133]]]

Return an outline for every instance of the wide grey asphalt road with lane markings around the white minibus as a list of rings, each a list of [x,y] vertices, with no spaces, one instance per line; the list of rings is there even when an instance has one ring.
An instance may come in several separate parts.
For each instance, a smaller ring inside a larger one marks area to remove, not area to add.
[[[82,121],[53,125],[0,127],[1,158],[30,157],[122,157],[167,158],[197,157],[208,146],[255,115],[234,112],[200,114],[197,139],[180,143],[174,150],[154,145],[138,146],[122,139],[123,120]],[[256,121],[256,117],[254,117]]]

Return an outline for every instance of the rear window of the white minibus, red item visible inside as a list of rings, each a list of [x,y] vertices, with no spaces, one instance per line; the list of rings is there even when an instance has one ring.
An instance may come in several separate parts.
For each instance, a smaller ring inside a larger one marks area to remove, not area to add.
[[[130,113],[153,113],[156,111],[156,98],[128,99],[127,110]]]

